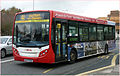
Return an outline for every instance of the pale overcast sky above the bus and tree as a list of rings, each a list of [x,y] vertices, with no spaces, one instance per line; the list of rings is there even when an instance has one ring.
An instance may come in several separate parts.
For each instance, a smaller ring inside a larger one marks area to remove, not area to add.
[[[120,10],[119,0],[0,0],[0,10],[13,6],[22,11],[54,10],[91,18],[107,17],[111,10]]]

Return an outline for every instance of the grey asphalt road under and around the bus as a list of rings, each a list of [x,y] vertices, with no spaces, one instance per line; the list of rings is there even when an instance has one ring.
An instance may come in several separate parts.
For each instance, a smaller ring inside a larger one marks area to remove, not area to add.
[[[26,63],[14,61],[12,55],[8,55],[1,60],[2,75],[77,75],[98,68],[111,65],[115,55],[119,53],[118,42],[117,47],[109,54],[96,55],[92,57],[82,58],[74,64],[62,62],[57,64],[41,64],[41,63]],[[119,55],[115,60],[119,64]]]

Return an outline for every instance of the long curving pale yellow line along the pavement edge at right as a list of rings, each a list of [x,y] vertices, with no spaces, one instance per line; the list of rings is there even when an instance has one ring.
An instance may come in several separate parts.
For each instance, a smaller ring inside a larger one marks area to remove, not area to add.
[[[117,56],[118,56],[118,55],[120,55],[120,53],[119,53],[119,54],[116,54],[116,55],[113,57],[113,59],[112,59],[112,61],[111,61],[111,65],[106,66],[106,67],[102,67],[102,68],[98,68],[98,69],[95,69],[95,70],[91,70],[91,71],[88,71],[88,72],[84,72],[84,73],[78,74],[78,75],[76,75],[76,76],[83,76],[83,75],[87,75],[87,74],[89,74],[89,73],[93,73],[93,72],[96,72],[96,71],[100,71],[100,70],[104,70],[104,69],[113,67],[113,66],[115,66],[115,64],[116,64],[116,59],[117,59]]]

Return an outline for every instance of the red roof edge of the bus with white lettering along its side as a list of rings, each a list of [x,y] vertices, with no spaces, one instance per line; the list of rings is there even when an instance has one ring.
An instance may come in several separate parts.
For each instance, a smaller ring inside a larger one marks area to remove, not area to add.
[[[115,25],[115,22],[113,22],[113,21],[106,21],[106,20],[100,20],[100,19],[95,19],[95,18],[89,18],[89,17],[85,17],[85,16],[79,16],[79,15],[63,13],[63,12],[58,12],[58,11],[53,11],[53,10],[34,10],[34,11],[19,12],[17,14],[28,13],[28,12],[38,12],[38,11],[53,12],[53,18],[62,18],[62,19],[68,19],[68,20],[97,23],[97,24]]]

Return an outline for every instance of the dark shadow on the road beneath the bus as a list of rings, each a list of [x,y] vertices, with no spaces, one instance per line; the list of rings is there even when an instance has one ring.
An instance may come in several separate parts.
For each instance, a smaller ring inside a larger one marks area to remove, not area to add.
[[[109,53],[111,54],[111,52]],[[107,55],[109,55],[107,54]],[[31,67],[31,68],[42,68],[42,69],[49,69],[49,68],[58,68],[58,67],[64,67],[66,65],[75,65],[76,63],[79,62],[84,62],[93,58],[97,58],[98,56],[103,56],[105,54],[100,54],[100,55],[94,55],[91,57],[86,57],[86,58],[81,58],[76,60],[74,64],[70,64],[69,62],[61,62],[61,63],[55,63],[55,64],[45,64],[45,63],[28,63],[28,62],[22,62],[22,63],[17,63],[17,65],[22,66],[22,67]]]

